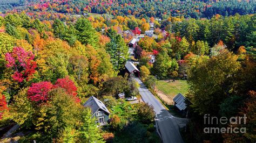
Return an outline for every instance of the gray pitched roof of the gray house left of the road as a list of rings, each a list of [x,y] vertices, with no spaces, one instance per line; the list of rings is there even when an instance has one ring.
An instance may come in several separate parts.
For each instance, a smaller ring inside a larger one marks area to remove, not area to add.
[[[92,110],[92,114],[94,114],[99,109],[102,109],[103,111],[110,113],[109,110],[107,110],[106,106],[97,98],[94,96],[91,96],[85,103],[84,106],[90,107]]]

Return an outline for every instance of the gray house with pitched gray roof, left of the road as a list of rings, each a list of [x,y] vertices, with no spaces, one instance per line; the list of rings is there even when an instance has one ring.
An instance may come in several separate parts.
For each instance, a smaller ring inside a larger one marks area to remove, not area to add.
[[[107,110],[106,106],[94,96],[91,96],[84,103],[84,106],[91,108],[92,118],[95,117],[99,125],[104,125],[107,122],[107,120],[109,120],[109,110]]]

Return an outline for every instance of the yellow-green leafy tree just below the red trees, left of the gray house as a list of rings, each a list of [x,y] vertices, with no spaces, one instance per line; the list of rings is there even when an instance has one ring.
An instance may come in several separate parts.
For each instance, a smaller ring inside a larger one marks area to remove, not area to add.
[[[51,101],[42,107],[47,115],[43,126],[46,134],[51,138],[57,138],[61,137],[62,134],[59,133],[64,131],[65,127],[78,127],[79,121],[82,121],[83,107],[62,88],[53,89],[49,96],[52,97]]]

